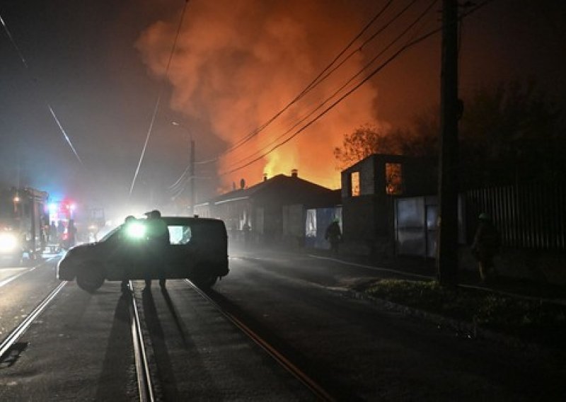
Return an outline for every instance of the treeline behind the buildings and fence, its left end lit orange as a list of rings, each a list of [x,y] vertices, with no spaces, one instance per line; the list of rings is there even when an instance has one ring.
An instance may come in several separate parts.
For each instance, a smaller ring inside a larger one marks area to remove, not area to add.
[[[534,81],[480,87],[464,100],[460,120],[460,181],[463,188],[519,180],[566,177],[563,113]],[[385,130],[364,125],[335,148],[339,168],[371,154],[434,157],[438,152],[438,108],[412,118],[408,127]]]

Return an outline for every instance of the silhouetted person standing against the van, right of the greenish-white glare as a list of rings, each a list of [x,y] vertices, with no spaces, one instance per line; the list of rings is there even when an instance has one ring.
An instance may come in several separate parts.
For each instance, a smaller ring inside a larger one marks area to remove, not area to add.
[[[161,219],[161,212],[154,209],[146,213],[146,235],[150,262],[159,272],[159,286],[165,288],[165,267],[167,264],[167,246],[170,243],[167,224]],[[146,289],[151,289],[151,279],[146,279]]]

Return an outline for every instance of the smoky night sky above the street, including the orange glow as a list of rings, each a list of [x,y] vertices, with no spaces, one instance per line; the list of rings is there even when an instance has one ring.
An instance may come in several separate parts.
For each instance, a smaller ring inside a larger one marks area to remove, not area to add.
[[[410,3],[393,1],[369,31]],[[465,18],[461,93],[535,77],[562,101],[565,3],[493,0]],[[165,75],[185,1],[2,0],[0,16],[13,42],[0,27],[0,182],[32,185],[53,198],[74,197],[119,213],[163,207],[172,196],[168,186],[187,166],[189,135],[195,139],[197,161],[214,159],[284,108],[386,4],[192,0]],[[437,105],[440,35],[395,58],[277,151],[226,173],[250,161],[250,155],[261,156],[262,149],[269,149],[430,4],[417,0],[379,38],[244,146],[216,163],[197,165],[197,200],[230,189],[240,178],[253,185],[262,173],[289,174],[291,168],[307,180],[337,188],[332,151],[344,134],[368,123],[405,125],[416,113]],[[398,45],[438,27],[440,8],[441,1],[432,4]]]

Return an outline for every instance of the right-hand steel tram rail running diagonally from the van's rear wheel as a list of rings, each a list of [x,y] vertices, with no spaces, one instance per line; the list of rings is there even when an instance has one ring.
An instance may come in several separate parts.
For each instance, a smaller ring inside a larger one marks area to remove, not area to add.
[[[304,386],[306,386],[313,394],[315,394],[318,401],[335,401],[335,398],[333,398],[333,396],[328,394],[328,392],[326,392],[322,386],[318,385],[316,381],[311,379],[311,377],[308,377],[308,375],[305,374],[303,371],[301,371],[299,367],[296,367],[293,363],[287,360],[287,358],[284,357],[281,353],[277,352],[275,348],[273,348],[269,343],[267,343],[267,341],[263,340],[260,337],[260,335],[253,332],[248,326],[246,326],[246,324],[244,324],[242,321],[236,318],[236,316],[233,316],[228,311],[222,309],[221,306],[219,306],[219,304],[214,302],[214,300],[212,300],[206,293],[202,292],[202,290],[199,289],[197,285],[195,285],[188,279],[185,279],[185,282],[187,282],[191,287],[193,287],[197,291],[197,293],[200,294],[201,297],[207,300],[207,302],[212,304],[212,306],[214,306],[215,309],[217,309],[224,317],[226,317],[228,321],[233,323],[234,326],[236,326],[243,333],[248,335],[248,337],[251,340],[253,340],[257,345],[259,345],[260,348],[265,350],[265,352],[267,352],[268,355],[270,355],[273,359],[275,359],[275,361],[277,361],[284,369],[286,369],[287,372],[291,373],[296,379],[301,381],[301,383],[304,384]]]

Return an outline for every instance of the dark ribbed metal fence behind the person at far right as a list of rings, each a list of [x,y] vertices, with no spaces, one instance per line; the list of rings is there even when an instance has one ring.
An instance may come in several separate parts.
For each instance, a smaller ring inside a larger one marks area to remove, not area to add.
[[[487,212],[504,246],[542,250],[566,249],[566,185],[524,184],[482,188],[466,193],[468,239],[478,214]]]

